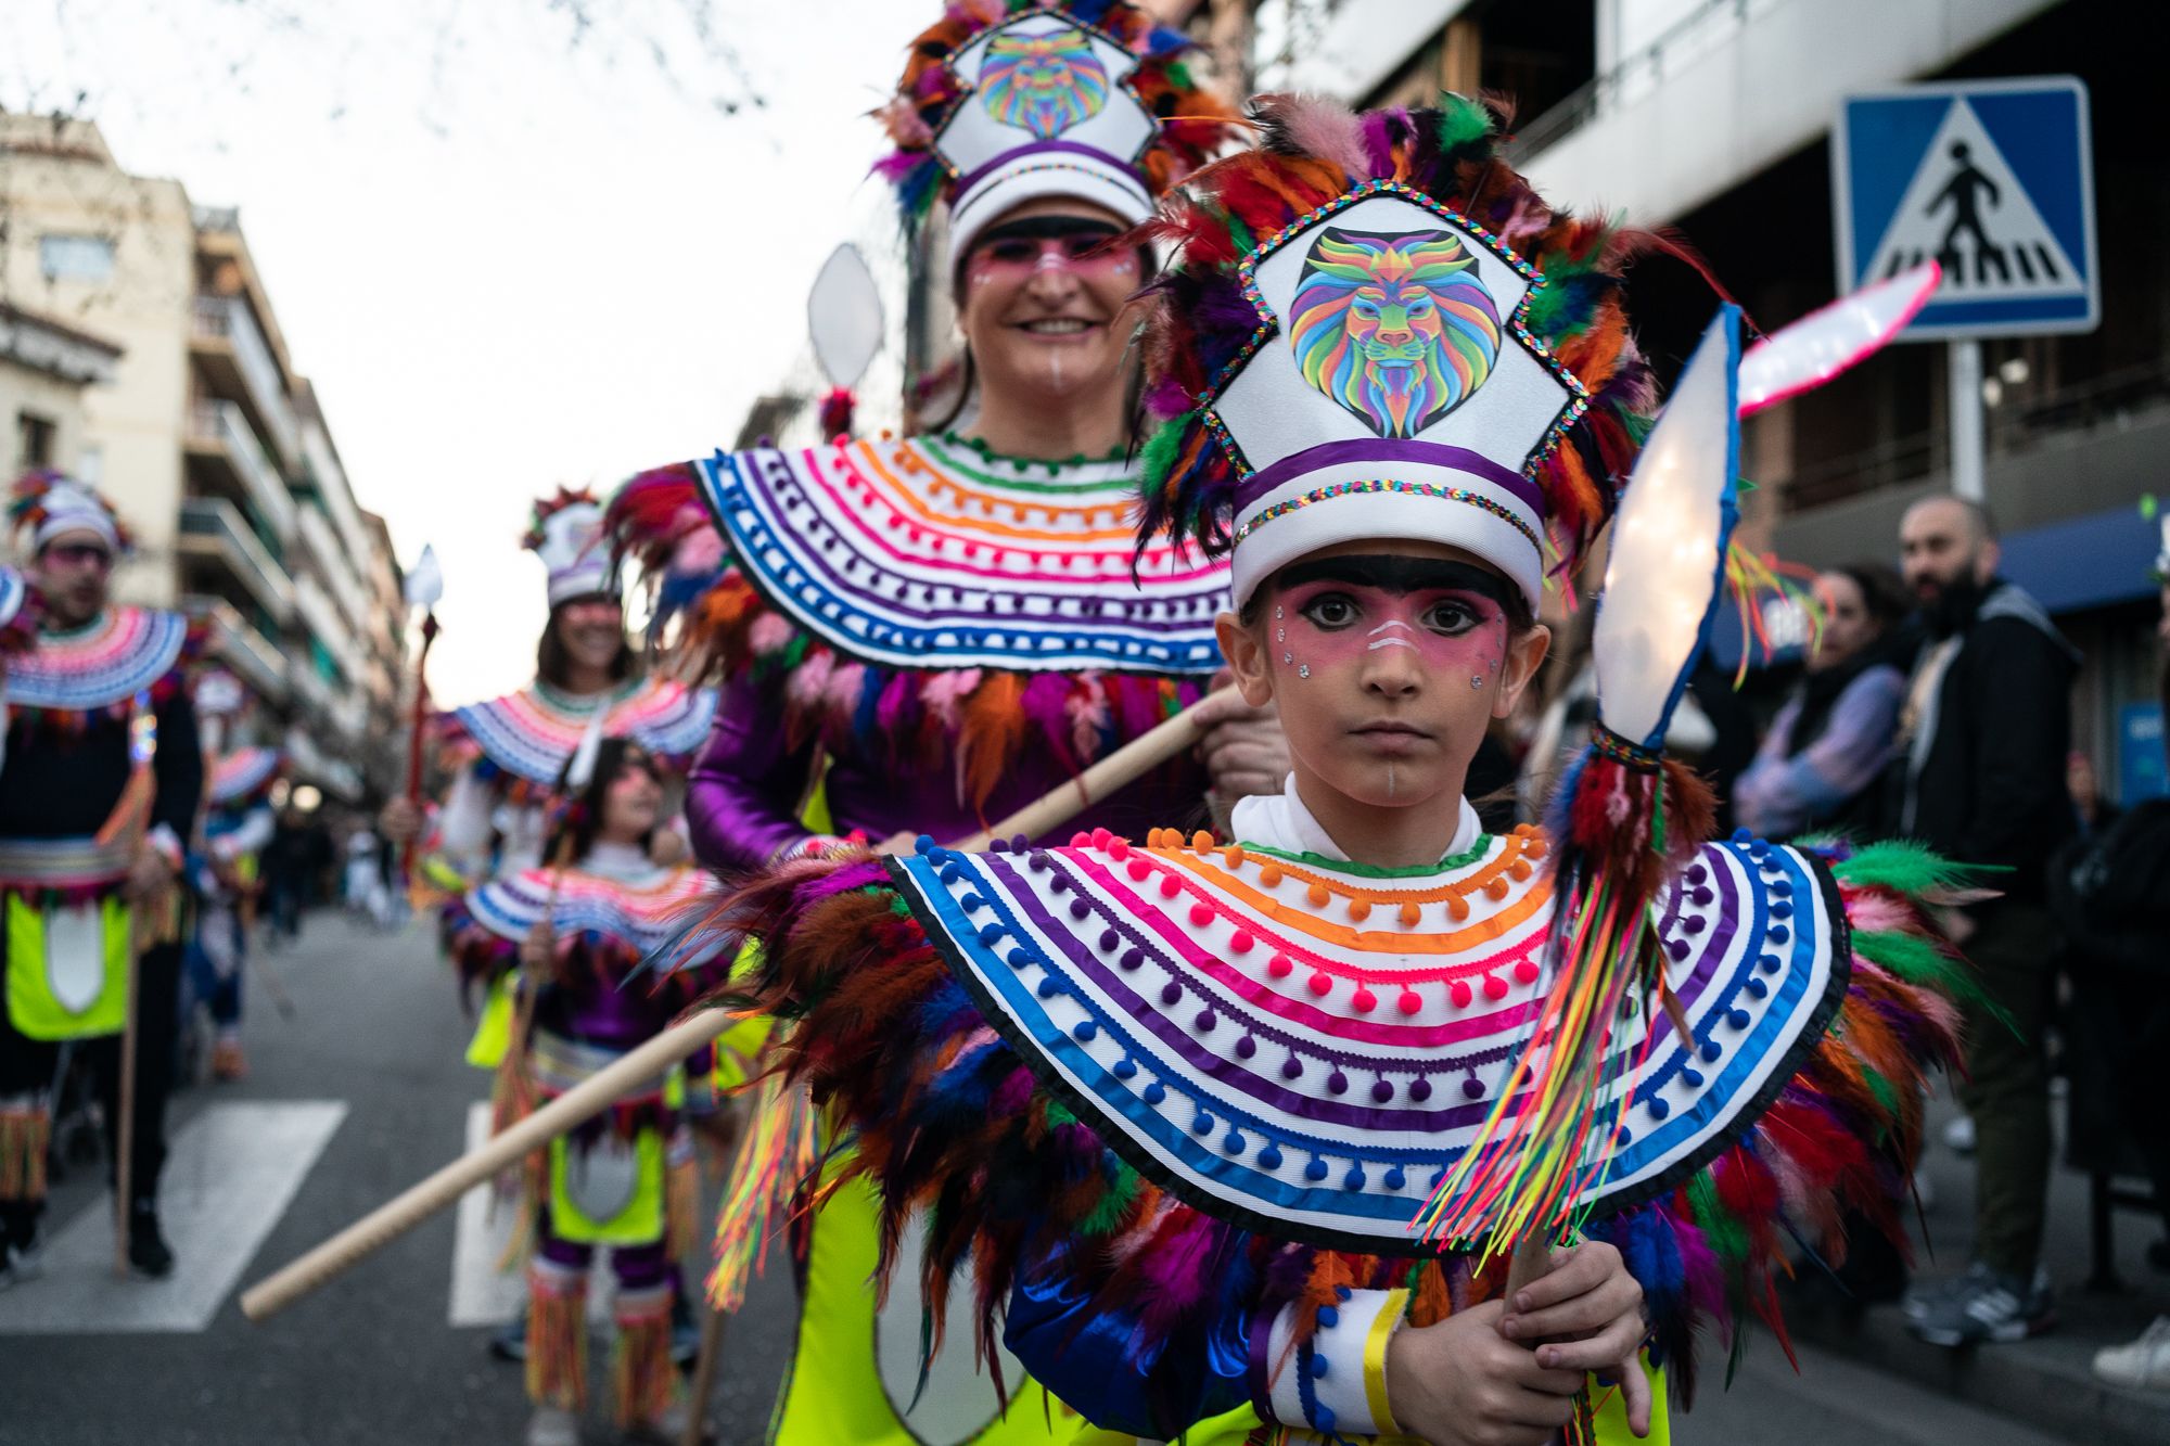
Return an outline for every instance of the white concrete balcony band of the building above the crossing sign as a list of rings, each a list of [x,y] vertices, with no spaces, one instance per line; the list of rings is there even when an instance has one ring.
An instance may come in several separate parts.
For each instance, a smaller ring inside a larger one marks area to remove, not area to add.
[[[1543,195],[1673,221],[1812,143],[1842,96],[1933,74],[2053,2],[1706,0],[1656,35],[1625,28],[1638,7],[1599,4],[1625,54],[1601,50],[1508,154]]]

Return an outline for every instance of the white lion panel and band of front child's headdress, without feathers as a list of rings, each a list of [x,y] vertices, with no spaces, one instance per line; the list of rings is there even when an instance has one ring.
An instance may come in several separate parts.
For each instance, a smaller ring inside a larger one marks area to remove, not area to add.
[[[1467,547],[1534,606],[1532,471],[1586,406],[1523,326],[1543,274],[1391,180],[1306,215],[1241,274],[1259,334],[1207,408],[1243,471],[1237,606],[1287,562],[1374,536]]]

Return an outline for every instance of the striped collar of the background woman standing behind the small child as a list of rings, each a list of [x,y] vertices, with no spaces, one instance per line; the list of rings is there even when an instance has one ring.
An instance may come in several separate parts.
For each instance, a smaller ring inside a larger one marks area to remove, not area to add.
[[[666,766],[684,769],[707,738],[716,693],[644,677],[621,684],[603,699],[577,699],[538,680],[519,693],[443,714],[443,745],[454,758],[477,758],[514,782],[556,788],[599,706],[610,710],[603,723],[608,736],[636,738]]]

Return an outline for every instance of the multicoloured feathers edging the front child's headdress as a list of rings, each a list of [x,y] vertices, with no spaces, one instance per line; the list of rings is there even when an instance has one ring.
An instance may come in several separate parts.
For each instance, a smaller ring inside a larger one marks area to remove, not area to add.
[[[1502,117],[1476,100],[1441,96],[1437,111],[1354,115],[1330,100],[1267,96],[1254,115],[1259,148],[1191,176],[1146,224],[1150,237],[1176,248],[1176,258],[1150,289],[1146,408],[1159,428],[1141,454],[1139,534],[1189,532],[1209,554],[1228,551],[1248,467],[1207,426],[1202,408],[1261,341],[1265,319],[1246,297],[1239,263],[1352,187],[1395,180],[1545,274],[1528,328],[1591,393],[1582,419],[1530,473],[1545,495],[1554,578],[1569,580],[1612,517],[1656,406],[1649,365],[1628,334],[1619,274],[1638,252],[1677,248],[1547,206],[1499,158]]]

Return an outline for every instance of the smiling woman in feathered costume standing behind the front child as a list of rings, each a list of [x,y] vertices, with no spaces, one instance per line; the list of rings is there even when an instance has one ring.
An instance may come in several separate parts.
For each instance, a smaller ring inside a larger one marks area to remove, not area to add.
[[[677,562],[666,604],[725,558],[686,619],[725,673],[688,792],[705,864],[738,875],[844,832],[888,849],[968,838],[1198,701],[1224,669],[1226,562],[1183,538],[1139,551],[1128,525],[1128,304],[1152,258],[1120,237],[1235,137],[1189,63],[1187,41],[1131,4],[948,7],[911,43],[879,169],[909,234],[946,215],[970,432],[718,454],[644,473],[614,502],[651,567]],[[1226,695],[1200,725],[1202,764],[1096,799],[1087,823],[1202,819],[1209,790],[1276,786],[1285,749],[1261,710]],[[822,829],[801,819],[818,758]],[[762,1183],[790,1183],[786,1162],[816,1149],[792,1103],[770,1096],[749,1131],[712,1288],[736,1307],[762,1233],[794,1216],[805,1290],[768,1439],[1076,1439],[1076,1416],[1007,1357],[1005,1387],[1024,1394],[1007,1416],[966,1348],[922,1374],[916,1303],[879,1307],[868,1290],[881,1242],[861,1185],[766,1212]]]

